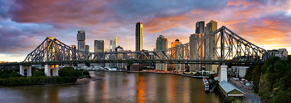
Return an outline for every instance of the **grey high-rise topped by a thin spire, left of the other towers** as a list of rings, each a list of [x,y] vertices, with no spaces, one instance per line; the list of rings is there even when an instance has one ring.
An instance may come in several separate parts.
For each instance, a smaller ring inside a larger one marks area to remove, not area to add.
[[[79,51],[85,51],[85,40],[86,40],[85,31],[83,31],[83,30],[78,31],[77,41],[78,41],[78,50]]]

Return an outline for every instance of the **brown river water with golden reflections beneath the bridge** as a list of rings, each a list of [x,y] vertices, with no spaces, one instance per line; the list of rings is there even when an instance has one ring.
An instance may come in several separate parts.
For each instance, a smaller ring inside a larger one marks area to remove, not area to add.
[[[222,103],[219,92],[204,92],[201,79],[116,71],[90,74],[105,79],[74,85],[0,86],[0,103]]]

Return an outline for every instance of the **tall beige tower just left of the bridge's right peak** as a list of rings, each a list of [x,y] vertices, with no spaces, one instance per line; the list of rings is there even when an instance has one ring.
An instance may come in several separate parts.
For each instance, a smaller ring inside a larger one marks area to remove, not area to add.
[[[209,35],[212,32],[217,30],[217,22],[210,20],[209,23],[206,24],[205,27],[205,35]],[[209,55],[205,55],[205,59],[207,60],[217,60],[217,56],[213,51],[213,47],[217,48],[217,45],[214,45],[217,42],[217,34],[214,34],[210,38],[207,38],[205,43],[205,52]],[[207,71],[217,72],[217,65],[205,65],[205,69]]]

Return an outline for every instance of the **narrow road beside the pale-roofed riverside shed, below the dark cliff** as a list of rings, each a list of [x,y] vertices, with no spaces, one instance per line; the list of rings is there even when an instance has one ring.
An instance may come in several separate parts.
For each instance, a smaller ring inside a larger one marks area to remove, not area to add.
[[[234,86],[241,89],[245,93],[245,96],[251,100],[251,102],[248,101],[248,103],[261,103],[260,97],[257,96],[256,94],[252,93],[249,89],[246,89],[246,86],[241,84],[240,81],[228,80],[227,82],[229,82],[230,84],[235,83],[236,85],[234,85]],[[241,86],[243,86],[243,87],[241,87]]]

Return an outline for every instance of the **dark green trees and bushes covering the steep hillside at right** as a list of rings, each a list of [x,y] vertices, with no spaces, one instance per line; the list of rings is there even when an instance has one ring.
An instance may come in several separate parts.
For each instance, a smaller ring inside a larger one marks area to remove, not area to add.
[[[245,78],[254,81],[254,91],[270,103],[291,102],[291,55],[269,58],[263,66],[248,69]]]

